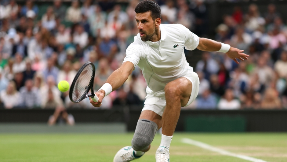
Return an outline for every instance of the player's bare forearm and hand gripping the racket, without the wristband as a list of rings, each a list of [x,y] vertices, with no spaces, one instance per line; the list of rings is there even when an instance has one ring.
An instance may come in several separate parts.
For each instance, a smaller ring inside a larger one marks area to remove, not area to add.
[[[126,61],[115,70],[107,79],[106,83],[110,84],[112,87],[112,91],[120,88],[125,81],[128,79],[129,75],[132,74],[134,69],[134,65],[132,62]],[[102,100],[105,97],[106,92],[101,89],[99,92],[95,93],[99,97],[99,101],[97,103],[93,102],[90,98],[90,103],[95,107],[100,107],[102,104]]]

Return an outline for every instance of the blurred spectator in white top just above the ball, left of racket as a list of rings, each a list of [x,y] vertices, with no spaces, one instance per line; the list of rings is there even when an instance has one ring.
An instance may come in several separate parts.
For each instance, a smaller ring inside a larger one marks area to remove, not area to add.
[[[57,77],[57,83],[60,81],[67,81],[70,85],[73,82],[74,77],[76,76],[77,72],[75,70],[72,70],[72,63],[71,61],[67,60],[63,67],[63,70],[59,71],[58,77]]]

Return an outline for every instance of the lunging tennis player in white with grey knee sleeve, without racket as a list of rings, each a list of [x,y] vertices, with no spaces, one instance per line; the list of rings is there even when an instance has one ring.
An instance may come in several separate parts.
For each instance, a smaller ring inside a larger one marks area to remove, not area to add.
[[[169,146],[180,115],[180,107],[190,105],[198,94],[199,79],[186,61],[183,47],[203,51],[225,52],[236,59],[248,55],[230,45],[199,38],[180,24],[161,24],[161,11],[156,2],[145,0],[136,8],[139,34],[126,50],[120,68],[115,70],[96,95],[95,107],[100,107],[104,96],[118,89],[139,66],[147,82],[147,97],[132,139],[132,146],[118,151],[114,162],[129,162],[150,149],[155,132],[162,127],[162,141],[156,151],[156,162],[169,162]]]

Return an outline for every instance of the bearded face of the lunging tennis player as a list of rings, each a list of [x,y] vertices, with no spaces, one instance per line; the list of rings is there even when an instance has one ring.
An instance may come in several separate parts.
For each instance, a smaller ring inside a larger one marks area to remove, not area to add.
[[[155,34],[155,21],[151,18],[151,12],[136,13],[136,26],[140,32],[142,41],[148,41]]]

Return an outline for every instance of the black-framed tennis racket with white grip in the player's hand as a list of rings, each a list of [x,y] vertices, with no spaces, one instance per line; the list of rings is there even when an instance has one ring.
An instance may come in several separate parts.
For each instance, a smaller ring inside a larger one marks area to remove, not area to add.
[[[94,93],[95,66],[91,62],[85,63],[77,72],[69,92],[72,102],[78,103],[87,97],[91,97],[94,102],[99,98]],[[91,94],[89,95],[89,91]]]

